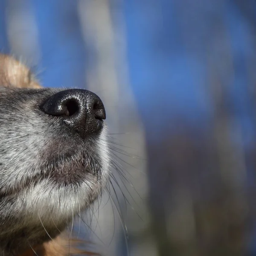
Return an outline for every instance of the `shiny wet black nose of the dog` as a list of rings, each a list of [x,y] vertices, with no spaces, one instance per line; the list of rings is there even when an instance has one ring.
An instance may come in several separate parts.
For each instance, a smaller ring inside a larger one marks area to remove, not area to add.
[[[88,90],[70,89],[52,95],[41,105],[41,110],[58,116],[82,138],[102,129],[106,119],[101,99]]]

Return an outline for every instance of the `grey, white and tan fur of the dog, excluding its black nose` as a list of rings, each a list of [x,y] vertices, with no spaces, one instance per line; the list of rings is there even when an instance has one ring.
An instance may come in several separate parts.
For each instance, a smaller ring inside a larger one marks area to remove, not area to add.
[[[61,89],[41,88],[8,55],[0,87],[0,256],[79,253],[60,233],[105,186],[106,127],[84,140],[70,133],[39,109]]]

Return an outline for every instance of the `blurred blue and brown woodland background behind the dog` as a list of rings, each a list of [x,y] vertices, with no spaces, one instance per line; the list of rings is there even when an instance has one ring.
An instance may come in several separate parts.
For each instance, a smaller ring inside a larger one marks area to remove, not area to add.
[[[70,227],[84,247],[256,255],[256,1],[0,0],[0,49],[105,104],[113,168]]]

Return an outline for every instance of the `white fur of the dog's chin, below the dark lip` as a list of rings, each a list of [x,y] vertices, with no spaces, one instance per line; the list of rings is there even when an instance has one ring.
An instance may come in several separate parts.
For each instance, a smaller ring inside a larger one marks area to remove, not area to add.
[[[10,196],[16,212],[14,215],[10,213],[7,218],[16,223],[14,229],[46,228],[52,235],[56,229],[62,231],[75,215],[96,200],[105,183],[90,172],[84,174],[82,180],[78,177],[63,180],[65,182],[60,183],[49,177]]]

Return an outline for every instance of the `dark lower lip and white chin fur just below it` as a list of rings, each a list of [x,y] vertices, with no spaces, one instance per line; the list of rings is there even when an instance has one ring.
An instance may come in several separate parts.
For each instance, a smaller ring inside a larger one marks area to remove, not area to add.
[[[63,207],[66,203],[72,204],[70,200],[77,201],[83,207],[96,199],[105,183],[106,177],[100,162],[91,164],[84,159],[68,160],[44,170],[43,175],[27,180],[17,194],[25,196],[27,201],[30,198],[34,204],[35,201],[46,199],[48,207],[50,203],[55,207],[55,201],[58,207]]]

